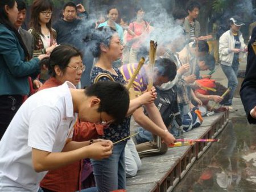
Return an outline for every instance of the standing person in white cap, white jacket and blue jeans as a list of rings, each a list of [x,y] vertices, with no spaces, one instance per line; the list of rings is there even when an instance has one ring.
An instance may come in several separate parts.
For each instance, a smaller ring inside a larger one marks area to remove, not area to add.
[[[226,31],[220,37],[219,53],[221,68],[228,78],[228,87],[231,88],[229,101],[224,105],[229,106],[229,111],[233,112],[236,111],[232,107],[232,99],[238,85],[237,73],[239,62],[241,60],[241,54],[247,52],[247,46],[240,32],[241,26],[244,25],[240,18],[233,16],[230,18],[229,24],[230,30]]]

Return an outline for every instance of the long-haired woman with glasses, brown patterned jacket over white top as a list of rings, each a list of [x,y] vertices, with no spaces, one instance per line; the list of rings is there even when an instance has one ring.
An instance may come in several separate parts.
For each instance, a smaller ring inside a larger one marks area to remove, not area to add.
[[[52,28],[53,4],[51,0],[35,0],[31,6],[30,32],[34,37],[34,57],[51,53],[57,46],[56,31]],[[40,81],[46,81],[47,68],[43,66]]]

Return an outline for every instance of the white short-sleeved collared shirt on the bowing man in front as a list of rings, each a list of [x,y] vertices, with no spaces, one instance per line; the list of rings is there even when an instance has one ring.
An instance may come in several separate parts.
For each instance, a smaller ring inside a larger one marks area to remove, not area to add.
[[[70,88],[39,91],[27,99],[16,112],[0,141],[0,191],[38,191],[47,172],[36,173],[32,165],[32,148],[61,152],[72,137],[77,114],[73,111]]]

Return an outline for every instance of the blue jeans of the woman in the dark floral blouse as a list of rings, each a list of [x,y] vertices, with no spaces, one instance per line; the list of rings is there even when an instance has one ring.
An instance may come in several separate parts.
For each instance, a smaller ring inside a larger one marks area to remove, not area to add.
[[[97,191],[113,191],[125,189],[125,145],[127,141],[121,141],[114,145],[112,155],[103,160],[91,160]]]

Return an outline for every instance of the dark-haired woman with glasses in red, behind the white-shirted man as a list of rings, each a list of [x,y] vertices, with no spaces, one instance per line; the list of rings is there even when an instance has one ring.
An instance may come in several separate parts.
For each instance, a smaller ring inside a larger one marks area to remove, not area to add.
[[[62,85],[65,81],[77,85],[82,72],[85,70],[85,65],[82,64],[82,53],[71,45],[59,45],[53,49],[49,58],[41,61],[41,64],[48,67],[48,73],[51,77],[44,82],[43,86],[39,88],[39,91]],[[78,124],[81,128],[84,126],[84,122],[76,123],[72,140],[77,141],[74,137],[75,135],[81,138],[79,141],[90,140],[90,138],[87,139],[80,135],[80,133],[77,133]],[[96,141],[94,140],[93,142]],[[79,190],[82,164],[83,161],[76,161],[60,169],[50,170],[40,182],[40,187],[42,187],[44,192]],[[82,191],[90,192],[96,190],[92,188]]]

